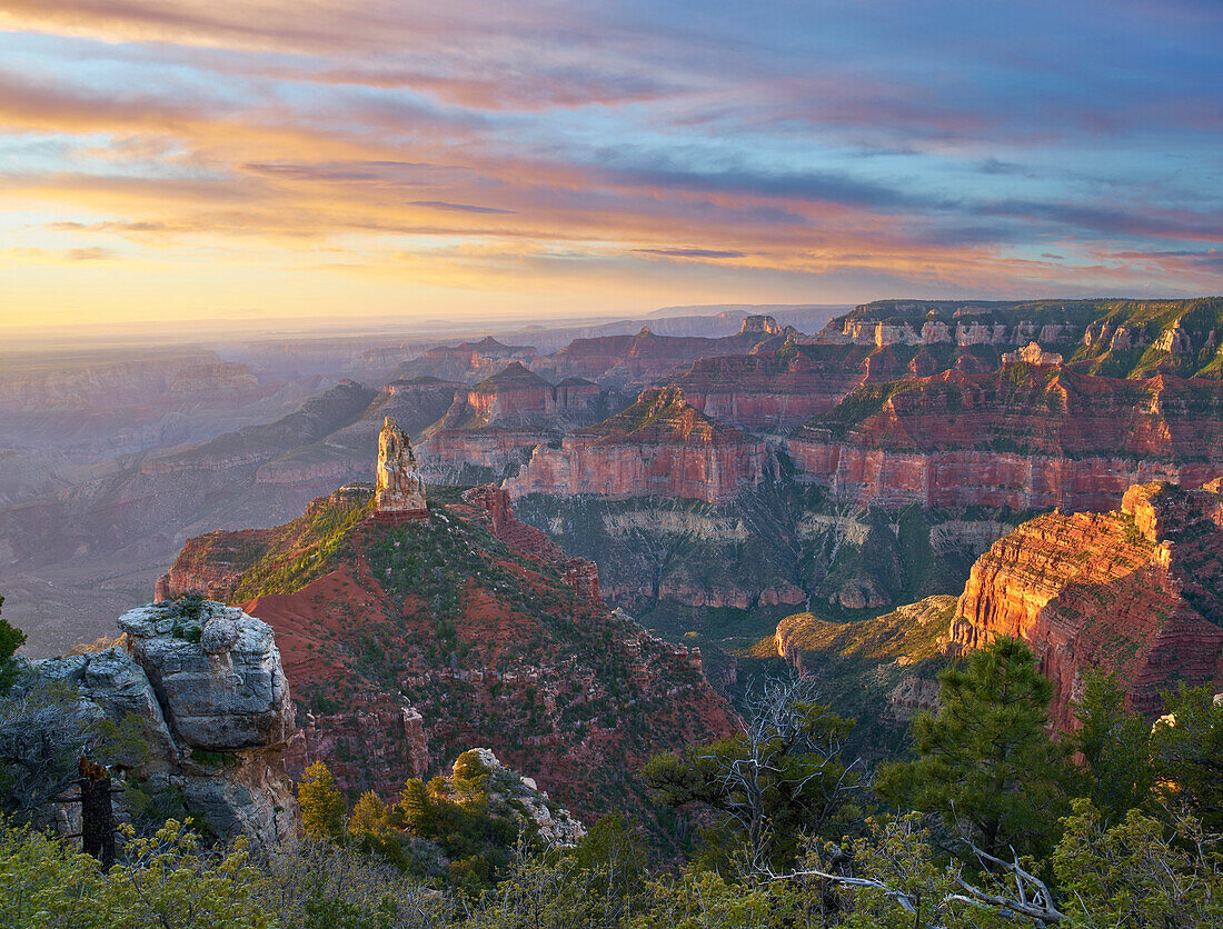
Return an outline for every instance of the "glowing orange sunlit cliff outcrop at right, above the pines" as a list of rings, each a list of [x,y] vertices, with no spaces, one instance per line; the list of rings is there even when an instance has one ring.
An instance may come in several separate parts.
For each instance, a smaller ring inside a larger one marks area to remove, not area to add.
[[[959,649],[1018,636],[1055,687],[1054,722],[1091,667],[1115,670],[1131,709],[1159,711],[1177,681],[1223,683],[1223,488],[1126,491],[1119,511],[1051,513],[972,566],[951,622]]]

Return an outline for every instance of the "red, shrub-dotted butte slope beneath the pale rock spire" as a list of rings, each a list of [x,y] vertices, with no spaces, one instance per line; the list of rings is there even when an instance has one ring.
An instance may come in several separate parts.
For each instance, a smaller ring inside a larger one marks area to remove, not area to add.
[[[292,770],[322,759],[345,788],[393,796],[484,744],[583,817],[648,821],[637,766],[729,725],[700,655],[612,614],[593,565],[504,491],[438,496],[386,526],[366,518],[368,491],[336,494],[258,540],[193,540],[170,577],[219,568],[275,630],[305,710]]]

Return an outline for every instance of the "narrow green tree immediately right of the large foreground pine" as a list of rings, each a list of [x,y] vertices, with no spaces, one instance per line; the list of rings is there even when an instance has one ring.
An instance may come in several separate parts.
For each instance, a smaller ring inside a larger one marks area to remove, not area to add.
[[[1081,725],[1068,741],[1084,757],[1081,792],[1106,823],[1119,823],[1151,798],[1151,727],[1140,715],[1125,711],[1117,675],[1099,670],[1087,672],[1075,715]]]

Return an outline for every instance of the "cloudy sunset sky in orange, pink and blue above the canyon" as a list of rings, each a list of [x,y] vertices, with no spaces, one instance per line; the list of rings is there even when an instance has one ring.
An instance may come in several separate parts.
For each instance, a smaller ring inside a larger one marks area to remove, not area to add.
[[[0,0],[0,326],[1221,292],[1219,0]]]

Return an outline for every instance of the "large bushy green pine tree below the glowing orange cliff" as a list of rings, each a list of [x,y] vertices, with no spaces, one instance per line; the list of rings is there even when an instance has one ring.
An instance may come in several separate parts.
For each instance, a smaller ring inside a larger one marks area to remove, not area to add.
[[[883,765],[876,791],[971,828],[991,854],[1048,848],[1065,808],[1066,749],[1046,731],[1053,685],[1032,650],[1000,637],[939,681],[938,715],[912,725],[917,759]]]

